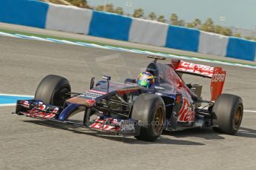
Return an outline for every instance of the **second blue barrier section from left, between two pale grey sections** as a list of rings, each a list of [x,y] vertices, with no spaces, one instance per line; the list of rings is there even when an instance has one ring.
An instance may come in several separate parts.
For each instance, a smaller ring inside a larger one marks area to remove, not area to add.
[[[93,11],[89,35],[128,41],[131,18]]]

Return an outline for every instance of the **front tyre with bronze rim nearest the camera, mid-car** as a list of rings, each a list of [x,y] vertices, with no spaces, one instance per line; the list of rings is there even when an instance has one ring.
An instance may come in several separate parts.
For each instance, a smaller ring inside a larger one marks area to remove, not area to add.
[[[139,140],[154,141],[163,132],[165,122],[165,103],[159,95],[142,94],[134,101],[131,118],[139,120]]]

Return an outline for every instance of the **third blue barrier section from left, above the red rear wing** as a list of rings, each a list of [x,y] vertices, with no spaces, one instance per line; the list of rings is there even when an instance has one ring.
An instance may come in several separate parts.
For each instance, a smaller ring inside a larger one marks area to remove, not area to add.
[[[197,52],[199,35],[199,30],[170,25],[165,47]]]

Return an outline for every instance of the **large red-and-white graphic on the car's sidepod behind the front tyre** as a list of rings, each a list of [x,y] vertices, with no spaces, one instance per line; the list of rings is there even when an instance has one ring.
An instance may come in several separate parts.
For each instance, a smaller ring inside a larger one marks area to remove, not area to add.
[[[178,114],[178,121],[180,122],[194,122],[195,113],[191,109],[191,104],[187,98],[183,97],[183,106]]]

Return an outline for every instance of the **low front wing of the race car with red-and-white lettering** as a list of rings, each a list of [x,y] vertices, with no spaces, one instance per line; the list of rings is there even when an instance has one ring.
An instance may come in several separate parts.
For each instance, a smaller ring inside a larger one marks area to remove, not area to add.
[[[61,115],[62,111],[63,109],[58,106],[45,104],[42,101],[27,100],[17,101],[15,113],[17,115],[25,115],[30,118],[52,120],[59,123],[71,124],[73,126],[95,130],[97,132],[108,132],[114,135],[140,135],[140,122],[138,120],[131,118],[122,120],[119,118],[101,116],[96,118],[96,120],[90,120],[89,122],[76,123],[69,120],[59,120],[59,115]]]

